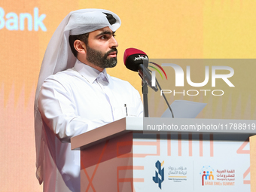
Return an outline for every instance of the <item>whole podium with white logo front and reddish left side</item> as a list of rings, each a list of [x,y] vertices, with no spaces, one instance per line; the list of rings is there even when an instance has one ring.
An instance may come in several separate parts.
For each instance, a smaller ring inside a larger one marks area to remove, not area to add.
[[[256,133],[210,129],[229,122],[125,117],[75,136],[81,191],[250,191],[245,148]]]

